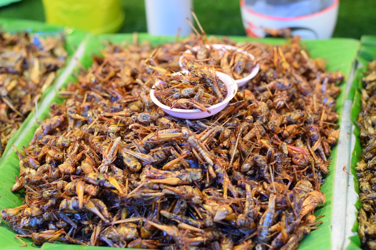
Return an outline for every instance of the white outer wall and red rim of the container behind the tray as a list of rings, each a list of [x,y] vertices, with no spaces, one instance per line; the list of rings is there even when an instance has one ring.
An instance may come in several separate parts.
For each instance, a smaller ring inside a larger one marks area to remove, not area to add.
[[[292,36],[302,39],[331,38],[337,23],[339,0],[321,0],[323,9],[308,15],[280,17],[277,14],[265,15],[252,9],[247,3],[252,0],[240,0],[240,13],[244,29],[250,37],[263,38],[268,35],[266,29],[291,29]],[[292,9],[292,7],[290,8]]]

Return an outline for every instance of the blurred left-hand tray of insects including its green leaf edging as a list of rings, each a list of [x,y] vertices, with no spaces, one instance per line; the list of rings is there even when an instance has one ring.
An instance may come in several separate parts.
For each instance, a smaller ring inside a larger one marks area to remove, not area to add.
[[[76,50],[74,45],[80,43],[73,33],[80,32],[38,22],[0,23],[1,161],[13,150],[20,131],[39,118],[35,107],[54,89],[61,69]]]

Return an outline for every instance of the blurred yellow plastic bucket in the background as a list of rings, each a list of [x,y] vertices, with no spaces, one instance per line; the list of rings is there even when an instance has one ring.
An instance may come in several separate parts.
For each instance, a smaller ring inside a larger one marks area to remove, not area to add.
[[[45,20],[93,34],[117,32],[124,21],[120,0],[42,0]]]

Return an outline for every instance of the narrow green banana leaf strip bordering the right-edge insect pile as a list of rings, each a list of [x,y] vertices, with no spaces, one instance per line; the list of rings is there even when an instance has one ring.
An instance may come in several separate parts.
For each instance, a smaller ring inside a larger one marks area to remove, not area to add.
[[[359,49],[359,54],[357,57],[358,65],[360,66],[355,73],[355,78],[352,82],[352,89],[354,92],[353,105],[351,108],[350,119],[353,125],[355,126],[354,135],[355,135],[355,145],[351,157],[351,173],[354,176],[355,182],[355,191],[359,193],[358,178],[356,176],[356,163],[359,161],[359,156],[362,153],[362,147],[359,140],[360,130],[356,126],[356,121],[358,120],[358,114],[361,111],[361,89],[363,88],[362,78],[365,75],[365,72],[368,71],[368,62],[376,59],[376,36],[362,36],[361,37],[361,47]],[[359,200],[355,204],[356,209],[361,208],[361,203]],[[347,250],[359,249],[361,247],[361,241],[358,233],[358,221],[354,221],[354,226],[352,232],[356,233],[354,236],[350,237],[350,244],[346,247]]]

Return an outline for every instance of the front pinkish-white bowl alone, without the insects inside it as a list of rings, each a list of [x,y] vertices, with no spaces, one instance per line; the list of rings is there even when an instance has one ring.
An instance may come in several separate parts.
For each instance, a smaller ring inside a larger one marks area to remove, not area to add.
[[[181,71],[177,72],[175,74],[184,75],[187,74],[188,71]],[[238,84],[235,83],[235,81],[229,77],[228,75],[216,71],[215,74],[217,74],[217,77],[223,81],[224,86],[227,87],[227,95],[224,98],[224,100],[220,103],[214,104],[211,107],[208,108],[211,113],[208,113],[207,111],[200,111],[199,109],[183,109],[183,108],[170,108],[167,105],[164,105],[158,99],[155,97],[154,92],[155,89],[153,88],[150,90],[150,98],[152,98],[152,101],[160,108],[162,108],[167,114],[170,114],[171,116],[181,118],[181,119],[202,119],[205,117],[212,116],[214,114],[217,114],[219,111],[223,110],[224,107],[230,102],[230,100],[235,96],[236,92],[238,91]]]

